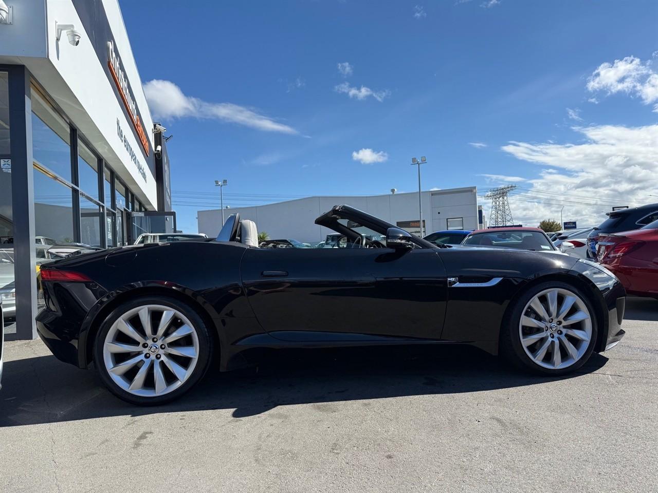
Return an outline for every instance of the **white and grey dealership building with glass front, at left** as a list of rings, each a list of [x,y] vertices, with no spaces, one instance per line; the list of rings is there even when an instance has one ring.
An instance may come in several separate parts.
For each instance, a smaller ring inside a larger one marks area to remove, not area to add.
[[[162,130],[118,1],[0,1],[0,291],[18,339],[36,337],[36,244],[175,229]]]

